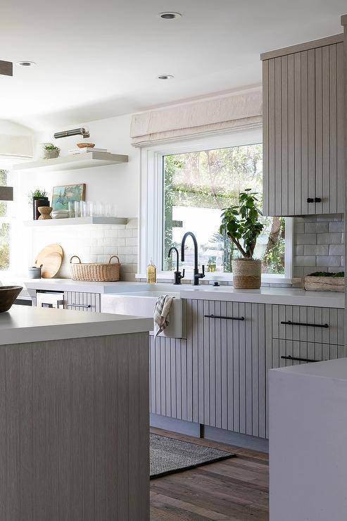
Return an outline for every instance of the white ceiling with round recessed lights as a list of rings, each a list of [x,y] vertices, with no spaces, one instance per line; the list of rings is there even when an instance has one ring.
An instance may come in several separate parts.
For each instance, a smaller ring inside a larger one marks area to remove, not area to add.
[[[182,18],[157,17],[171,10]],[[341,32],[345,13],[343,0],[4,1],[0,59],[38,66],[0,76],[0,118],[39,129],[258,84],[260,52]]]

